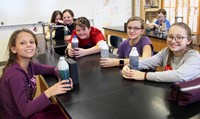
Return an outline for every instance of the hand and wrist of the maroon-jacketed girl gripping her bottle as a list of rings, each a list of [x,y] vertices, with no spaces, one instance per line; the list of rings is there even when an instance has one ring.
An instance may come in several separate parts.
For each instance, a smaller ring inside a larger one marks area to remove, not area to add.
[[[69,80],[61,80],[48,88],[44,93],[48,98],[50,98],[51,96],[66,93],[67,91],[73,89],[72,79],[70,78],[70,84],[66,84],[67,82],[69,82]]]

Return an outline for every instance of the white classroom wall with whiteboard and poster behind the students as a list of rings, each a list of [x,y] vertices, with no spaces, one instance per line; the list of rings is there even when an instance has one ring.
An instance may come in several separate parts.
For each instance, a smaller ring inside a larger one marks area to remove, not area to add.
[[[13,31],[21,28],[33,30],[33,24],[49,22],[54,10],[64,9],[72,9],[75,18],[89,18],[93,26],[103,31],[105,26],[124,25],[132,16],[132,0],[1,0],[0,63],[7,60],[8,39]],[[42,33],[41,24],[38,25],[35,34]]]

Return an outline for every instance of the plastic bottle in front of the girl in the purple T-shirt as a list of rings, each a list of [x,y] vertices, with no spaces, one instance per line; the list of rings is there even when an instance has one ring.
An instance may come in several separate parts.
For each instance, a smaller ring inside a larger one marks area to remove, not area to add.
[[[100,43],[99,47],[101,48],[101,58],[108,58],[109,57],[109,48],[106,41]]]

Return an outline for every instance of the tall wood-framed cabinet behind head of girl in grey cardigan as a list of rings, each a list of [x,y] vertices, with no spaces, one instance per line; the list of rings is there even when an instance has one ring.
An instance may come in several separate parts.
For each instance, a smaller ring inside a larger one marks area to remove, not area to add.
[[[171,24],[184,22],[189,25],[193,34],[200,34],[200,0],[162,0],[162,8],[167,11]]]

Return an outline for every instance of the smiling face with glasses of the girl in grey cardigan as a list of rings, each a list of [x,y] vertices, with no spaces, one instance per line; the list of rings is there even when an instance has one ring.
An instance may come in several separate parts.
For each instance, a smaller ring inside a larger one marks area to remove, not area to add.
[[[191,39],[188,38],[187,31],[180,26],[172,26],[169,29],[168,37],[167,46],[175,56],[183,55],[187,50],[187,46],[191,43]],[[170,37],[173,38],[170,40]],[[178,39],[181,40],[178,41]]]

